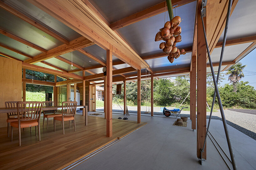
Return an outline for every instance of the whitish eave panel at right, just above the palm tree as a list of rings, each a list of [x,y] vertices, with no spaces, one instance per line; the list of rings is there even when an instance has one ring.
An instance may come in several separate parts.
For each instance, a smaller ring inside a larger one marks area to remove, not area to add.
[[[225,46],[223,62],[233,61],[237,56],[239,56],[248,46],[252,43],[238,44],[233,46]],[[220,60],[221,47],[214,48],[211,54],[212,63],[218,63]],[[207,62],[207,64],[209,61]]]

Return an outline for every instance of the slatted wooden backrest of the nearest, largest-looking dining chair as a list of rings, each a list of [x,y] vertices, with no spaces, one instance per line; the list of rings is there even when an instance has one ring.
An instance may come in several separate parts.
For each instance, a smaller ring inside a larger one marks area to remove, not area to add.
[[[18,122],[28,121],[28,120],[40,120],[40,115],[42,112],[43,102],[18,102],[17,112],[18,112]]]

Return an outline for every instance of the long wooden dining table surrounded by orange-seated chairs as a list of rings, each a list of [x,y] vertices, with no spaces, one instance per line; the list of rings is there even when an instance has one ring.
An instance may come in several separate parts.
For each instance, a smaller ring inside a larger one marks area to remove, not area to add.
[[[88,124],[88,112],[87,112],[87,106],[76,106],[77,109],[83,109],[83,116],[84,116],[84,123],[85,126]],[[62,105],[61,106],[42,106],[42,111],[43,110],[62,110]],[[0,114],[3,113],[12,113],[12,112],[17,112],[17,107],[1,107],[0,108]]]

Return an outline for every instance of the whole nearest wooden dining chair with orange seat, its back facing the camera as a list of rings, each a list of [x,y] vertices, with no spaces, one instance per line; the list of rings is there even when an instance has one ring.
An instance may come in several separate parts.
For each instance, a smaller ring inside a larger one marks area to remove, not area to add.
[[[21,146],[21,128],[38,127],[38,136],[40,138],[40,115],[43,102],[17,102],[18,121],[11,122],[11,141],[13,141],[13,127],[19,129],[19,146]]]

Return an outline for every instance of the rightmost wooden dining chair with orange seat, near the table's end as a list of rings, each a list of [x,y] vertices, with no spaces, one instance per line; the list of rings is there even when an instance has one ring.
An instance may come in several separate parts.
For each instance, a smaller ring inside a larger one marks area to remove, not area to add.
[[[62,102],[62,116],[54,117],[54,132],[55,132],[56,120],[62,121],[63,134],[64,134],[64,121],[69,121],[69,129],[70,129],[70,120],[74,120],[74,129],[75,129],[76,106],[77,106],[76,101]]]

